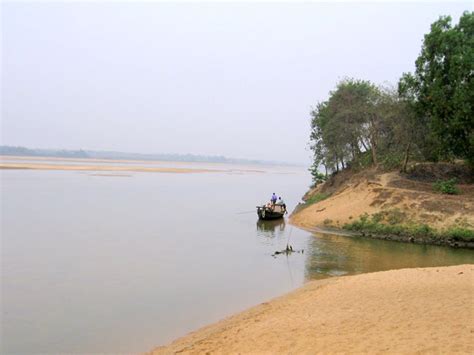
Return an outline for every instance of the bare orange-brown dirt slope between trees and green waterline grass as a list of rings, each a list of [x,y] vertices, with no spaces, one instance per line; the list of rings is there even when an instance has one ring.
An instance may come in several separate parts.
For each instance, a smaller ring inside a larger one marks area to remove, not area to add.
[[[342,227],[365,213],[381,213],[396,223],[426,224],[437,230],[474,228],[474,185],[459,188],[461,194],[445,195],[434,192],[430,181],[398,172],[343,172],[306,195],[307,199],[318,194],[328,198],[301,206],[290,220],[309,229]]]

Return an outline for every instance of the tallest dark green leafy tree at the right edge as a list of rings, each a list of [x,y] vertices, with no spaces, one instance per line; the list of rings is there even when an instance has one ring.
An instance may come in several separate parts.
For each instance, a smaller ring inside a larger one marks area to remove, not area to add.
[[[424,37],[414,75],[404,74],[399,83],[428,124],[438,158],[474,159],[473,75],[474,13],[465,12],[455,26],[451,17],[440,17]]]

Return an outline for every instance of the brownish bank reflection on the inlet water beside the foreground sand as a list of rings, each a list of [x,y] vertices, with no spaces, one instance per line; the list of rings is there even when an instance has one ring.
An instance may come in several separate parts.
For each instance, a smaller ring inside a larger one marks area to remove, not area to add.
[[[330,234],[309,239],[305,279],[321,279],[410,267],[473,263],[467,249],[417,245]]]

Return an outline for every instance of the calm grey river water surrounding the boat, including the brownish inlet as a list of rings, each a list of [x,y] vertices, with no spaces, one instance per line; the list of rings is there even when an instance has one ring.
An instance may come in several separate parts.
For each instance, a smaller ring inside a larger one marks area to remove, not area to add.
[[[254,168],[255,169],[255,168]],[[143,352],[301,286],[473,253],[259,223],[303,169],[94,176],[2,171],[2,353]],[[272,257],[290,240],[304,254]]]

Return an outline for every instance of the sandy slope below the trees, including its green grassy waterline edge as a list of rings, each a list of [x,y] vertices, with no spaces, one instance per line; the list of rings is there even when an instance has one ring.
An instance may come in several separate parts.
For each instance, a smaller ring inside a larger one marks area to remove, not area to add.
[[[399,172],[343,171],[310,189],[290,223],[312,232],[474,249],[474,186],[440,194]],[[321,230],[319,230],[321,229]]]

